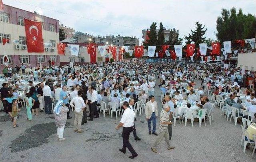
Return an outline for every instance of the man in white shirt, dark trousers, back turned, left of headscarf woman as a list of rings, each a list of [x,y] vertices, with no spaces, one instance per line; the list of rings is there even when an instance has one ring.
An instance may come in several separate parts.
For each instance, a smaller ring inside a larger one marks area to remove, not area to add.
[[[43,88],[43,94],[44,94],[44,110],[47,114],[52,114],[52,92],[51,88],[48,86],[49,82],[45,83],[45,86]]]

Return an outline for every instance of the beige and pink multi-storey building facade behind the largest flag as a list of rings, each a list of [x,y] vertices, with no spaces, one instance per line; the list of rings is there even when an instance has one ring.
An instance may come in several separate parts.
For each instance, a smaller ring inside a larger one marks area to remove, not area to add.
[[[45,47],[44,53],[28,53],[24,18],[42,22],[44,43],[50,44],[50,47]],[[58,20],[4,5],[3,12],[0,12],[0,69],[2,70],[4,67],[4,54],[8,55],[9,64],[14,66],[16,64],[20,66],[21,63],[26,64],[28,67],[36,67],[40,63],[48,65],[49,59],[54,60],[55,64],[58,65],[60,63],[56,46],[59,43],[58,32]],[[2,39],[9,39],[9,41],[3,45]],[[18,43],[13,43],[14,40],[18,40]]]

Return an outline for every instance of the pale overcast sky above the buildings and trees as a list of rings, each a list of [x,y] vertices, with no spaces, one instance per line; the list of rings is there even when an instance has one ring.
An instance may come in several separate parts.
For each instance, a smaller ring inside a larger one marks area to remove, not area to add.
[[[76,31],[94,36],[118,34],[136,36],[140,39],[140,43],[142,29],[149,28],[153,21],[157,22],[157,28],[162,22],[167,29],[178,29],[182,38],[190,33],[191,28],[195,29],[196,21],[200,21],[207,28],[206,38],[216,39],[214,32],[221,8],[235,7],[237,10],[242,8],[244,14],[256,15],[256,0],[3,0],[3,2],[57,19],[60,24],[73,27]]]

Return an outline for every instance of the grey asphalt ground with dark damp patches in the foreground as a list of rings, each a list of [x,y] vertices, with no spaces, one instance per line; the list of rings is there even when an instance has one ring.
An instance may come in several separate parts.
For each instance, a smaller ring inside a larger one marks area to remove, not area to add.
[[[198,83],[198,82],[197,82]],[[160,90],[156,88],[156,101],[160,112]],[[73,112],[71,115],[73,116]],[[34,117],[34,116],[33,116]],[[167,150],[165,141],[158,146],[158,153],[152,152],[150,145],[155,141],[155,135],[148,135],[148,126],[144,114],[136,121],[136,129],[141,141],[134,141],[133,135],[130,142],[138,152],[134,160],[126,154],[118,151],[122,147],[121,129],[114,128],[119,123],[118,119],[106,115],[88,121],[82,125],[84,133],[77,134],[73,131],[74,118],[68,119],[64,130],[66,141],[58,142],[56,126],[53,115],[42,114],[26,121],[25,109],[20,112],[19,127],[12,128],[10,119],[0,113],[0,161],[1,162],[68,162],[76,160],[87,162],[255,162],[251,159],[252,149],[243,153],[240,148],[241,127],[240,124],[230,124],[223,116],[220,109],[214,110],[212,125],[206,122],[206,127],[199,123],[176,123],[173,127],[171,144],[174,150]],[[157,123],[157,132],[158,132]]]

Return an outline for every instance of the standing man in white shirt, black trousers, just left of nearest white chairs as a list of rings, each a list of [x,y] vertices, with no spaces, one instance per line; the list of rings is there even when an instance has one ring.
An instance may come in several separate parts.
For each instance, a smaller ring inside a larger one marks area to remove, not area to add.
[[[91,86],[91,109],[90,109],[90,119],[88,121],[93,121],[93,118],[97,118],[99,117],[99,113],[97,110],[97,101],[98,101],[98,93],[95,90],[94,86]],[[94,117],[94,115],[96,115],[96,117]]]

